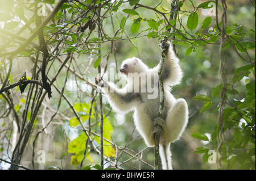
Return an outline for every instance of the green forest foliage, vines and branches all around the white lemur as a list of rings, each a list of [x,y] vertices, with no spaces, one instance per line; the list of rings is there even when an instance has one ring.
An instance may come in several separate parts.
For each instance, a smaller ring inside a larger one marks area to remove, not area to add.
[[[189,107],[174,169],[255,169],[255,1],[0,2],[1,169],[153,169],[93,80],[120,81],[128,57],[154,67],[164,38]]]

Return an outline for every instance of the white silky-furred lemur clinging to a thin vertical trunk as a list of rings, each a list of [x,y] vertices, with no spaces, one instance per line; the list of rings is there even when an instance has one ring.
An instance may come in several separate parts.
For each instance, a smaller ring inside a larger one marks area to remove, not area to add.
[[[163,128],[160,137],[160,158],[163,169],[172,169],[170,143],[179,139],[188,123],[188,107],[184,99],[175,99],[170,86],[178,85],[183,77],[179,66],[179,58],[175,56],[169,41],[162,41],[160,48],[167,46],[168,54],[162,69],[164,84],[163,119],[159,113],[159,65],[149,69],[139,58],[128,58],[122,62],[120,72],[125,75],[127,85],[119,89],[112,82],[95,77],[95,82],[108,97],[110,106],[115,111],[127,113],[134,110],[134,123],[148,146],[154,146],[154,125]],[[156,77],[156,80],[155,80]],[[137,78],[137,79],[136,79]],[[139,79],[140,78],[140,79]],[[150,90],[150,91],[149,91]],[[158,92],[152,96],[151,92]],[[151,97],[150,97],[151,96]]]

